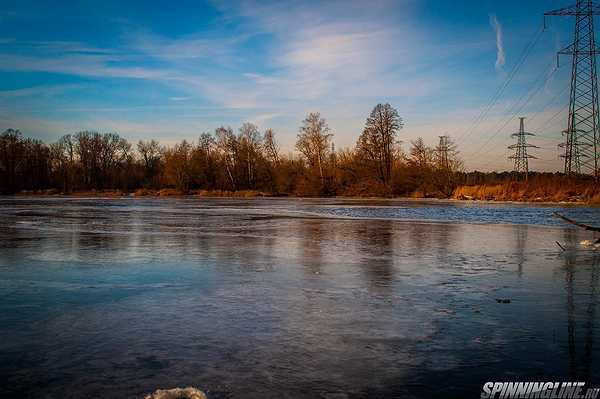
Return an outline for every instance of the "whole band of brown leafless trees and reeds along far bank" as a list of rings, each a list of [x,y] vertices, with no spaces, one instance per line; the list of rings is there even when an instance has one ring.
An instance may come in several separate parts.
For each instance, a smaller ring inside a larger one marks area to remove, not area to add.
[[[463,170],[450,138],[436,147],[422,138],[404,152],[402,118],[378,104],[354,148],[336,149],[319,113],[302,121],[296,153],[283,154],[275,132],[252,123],[238,131],[219,127],[164,146],[155,140],[132,145],[116,133],[82,131],[45,144],[8,129],[0,136],[0,192],[138,195],[289,195],[436,197],[497,200],[598,201],[600,191],[585,176],[551,173],[481,173]]]

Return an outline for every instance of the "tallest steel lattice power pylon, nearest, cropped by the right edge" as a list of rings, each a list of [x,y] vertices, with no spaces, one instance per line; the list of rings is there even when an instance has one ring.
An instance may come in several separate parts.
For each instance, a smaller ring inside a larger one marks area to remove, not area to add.
[[[558,52],[573,56],[571,69],[571,97],[569,119],[563,132],[565,142],[562,157],[565,174],[587,173],[600,177],[600,136],[598,134],[598,81],[596,76],[596,47],[594,15],[600,6],[592,0],[577,0],[577,4],[544,13],[547,15],[575,16],[573,43]],[[557,58],[558,62],[558,58]]]

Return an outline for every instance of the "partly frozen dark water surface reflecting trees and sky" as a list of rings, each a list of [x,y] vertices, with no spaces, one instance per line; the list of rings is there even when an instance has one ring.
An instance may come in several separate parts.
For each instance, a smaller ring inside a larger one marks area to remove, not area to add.
[[[600,386],[600,251],[557,210],[600,225],[545,205],[2,198],[0,397]]]

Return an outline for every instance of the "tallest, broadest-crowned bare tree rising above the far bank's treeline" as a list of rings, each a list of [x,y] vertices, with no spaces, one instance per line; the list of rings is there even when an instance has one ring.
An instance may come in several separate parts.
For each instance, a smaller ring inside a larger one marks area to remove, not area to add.
[[[398,111],[390,104],[377,104],[358,138],[359,157],[374,167],[377,177],[384,184],[391,180],[394,145],[402,127],[402,118],[398,116]]]

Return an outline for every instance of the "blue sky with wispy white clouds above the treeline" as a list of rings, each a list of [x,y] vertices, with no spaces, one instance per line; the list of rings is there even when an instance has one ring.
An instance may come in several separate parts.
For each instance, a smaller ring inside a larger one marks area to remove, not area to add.
[[[468,170],[511,169],[506,147],[524,116],[540,147],[530,169],[556,171],[570,77],[556,51],[574,21],[552,17],[543,29],[543,13],[567,5],[3,0],[0,130],[173,144],[249,121],[274,129],[288,153],[307,113],[320,112],[345,148],[388,102],[405,150],[449,135]]]

